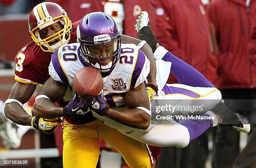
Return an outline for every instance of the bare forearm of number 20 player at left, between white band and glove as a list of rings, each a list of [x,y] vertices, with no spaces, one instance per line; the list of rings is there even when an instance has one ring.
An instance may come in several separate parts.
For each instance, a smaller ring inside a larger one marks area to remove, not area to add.
[[[36,100],[32,108],[32,115],[44,118],[64,116],[63,107],[56,106],[53,101],[45,98]]]

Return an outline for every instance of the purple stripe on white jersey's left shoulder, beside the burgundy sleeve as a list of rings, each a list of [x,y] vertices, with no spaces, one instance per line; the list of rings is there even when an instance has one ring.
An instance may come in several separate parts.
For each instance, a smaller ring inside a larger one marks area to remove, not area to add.
[[[69,79],[67,79],[67,76],[65,75],[65,73],[63,72],[63,69],[61,68],[60,62],[59,62],[59,58],[58,58],[58,51],[55,51],[52,55],[51,55],[51,62],[54,66],[55,71],[57,72],[57,74],[59,75],[59,78],[61,79],[61,81],[64,84],[69,85]]]

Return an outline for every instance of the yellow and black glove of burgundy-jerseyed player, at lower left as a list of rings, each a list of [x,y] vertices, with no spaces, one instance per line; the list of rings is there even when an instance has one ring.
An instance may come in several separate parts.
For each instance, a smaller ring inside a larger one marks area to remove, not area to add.
[[[34,116],[31,120],[31,126],[39,131],[50,134],[54,128],[56,128],[59,122],[61,122],[61,119],[58,118],[45,119]]]

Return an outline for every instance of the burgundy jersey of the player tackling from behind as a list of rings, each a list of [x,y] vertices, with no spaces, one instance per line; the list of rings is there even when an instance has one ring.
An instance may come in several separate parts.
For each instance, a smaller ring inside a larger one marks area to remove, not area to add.
[[[72,24],[69,43],[77,42],[77,22]],[[44,84],[50,77],[52,52],[44,52],[34,41],[27,43],[15,57],[15,80],[25,84]]]

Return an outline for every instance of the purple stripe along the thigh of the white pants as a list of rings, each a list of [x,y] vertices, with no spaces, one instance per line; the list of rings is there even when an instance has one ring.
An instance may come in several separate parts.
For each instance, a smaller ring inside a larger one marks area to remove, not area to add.
[[[177,88],[177,87],[167,86],[167,85],[164,85],[164,88],[162,89],[162,91],[164,91],[164,94],[184,94],[193,98],[200,97],[200,95],[192,91],[189,91],[187,89],[182,89],[182,88]]]

